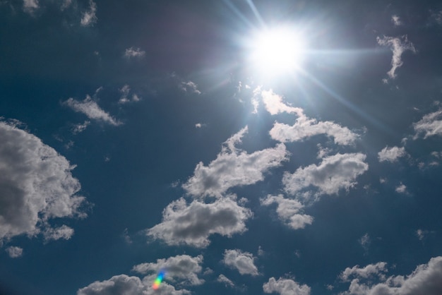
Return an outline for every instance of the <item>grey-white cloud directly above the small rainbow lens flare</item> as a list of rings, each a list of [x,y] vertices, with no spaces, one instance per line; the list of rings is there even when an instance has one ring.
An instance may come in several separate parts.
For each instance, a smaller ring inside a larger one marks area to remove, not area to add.
[[[198,285],[204,282],[203,279],[198,278],[198,273],[203,270],[201,263],[203,263],[202,255],[197,257],[177,255],[167,259],[157,259],[157,263],[141,263],[132,267],[132,270],[141,274],[148,272],[157,274],[165,271],[166,279],[179,279],[187,284]]]

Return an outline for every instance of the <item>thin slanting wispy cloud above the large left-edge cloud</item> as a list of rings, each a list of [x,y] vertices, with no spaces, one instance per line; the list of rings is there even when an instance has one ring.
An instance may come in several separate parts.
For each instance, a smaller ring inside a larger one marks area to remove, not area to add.
[[[98,121],[103,121],[107,124],[111,124],[114,126],[121,125],[121,122],[114,119],[107,112],[104,112],[97,104],[94,102],[89,95],[86,95],[85,100],[82,102],[78,102],[78,100],[74,100],[72,97],[63,102],[68,107],[73,109],[75,112],[80,112],[88,116],[89,119],[94,119]]]

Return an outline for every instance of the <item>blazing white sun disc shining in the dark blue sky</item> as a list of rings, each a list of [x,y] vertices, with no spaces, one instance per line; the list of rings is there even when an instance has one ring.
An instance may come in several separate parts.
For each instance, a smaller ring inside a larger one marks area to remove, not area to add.
[[[300,68],[306,44],[299,32],[289,27],[268,28],[253,34],[250,63],[261,76],[279,76]]]

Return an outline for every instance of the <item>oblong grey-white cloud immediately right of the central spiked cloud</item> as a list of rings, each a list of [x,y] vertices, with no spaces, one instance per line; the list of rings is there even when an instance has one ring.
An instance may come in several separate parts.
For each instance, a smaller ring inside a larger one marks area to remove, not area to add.
[[[321,164],[299,167],[294,174],[285,172],[282,178],[285,191],[294,195],[303,188],[316,186],[319,194],[335,194],[341,188],[348,190],[357,182],[357,176],[364,174],[369,165],[362,153],[337,154],[323,158]]]

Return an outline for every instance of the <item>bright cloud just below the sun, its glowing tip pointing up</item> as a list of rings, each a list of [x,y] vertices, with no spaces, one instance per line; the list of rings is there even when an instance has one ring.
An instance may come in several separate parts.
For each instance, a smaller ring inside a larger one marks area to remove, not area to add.
[[[316,121],[304,114],[299,107],[289,107],[282,102],[282,97],[275,93],[263,91],[263,102],[270,114],[280,112],[297,114],[296,123],[292,126],[275,122],[270,130],[270,136],[281,143],[293,142],[324,134],[333,137],[338,145],[352,145],[357,140],[358,135],[350,131],[347,127],[342,127],[332,121]]]

